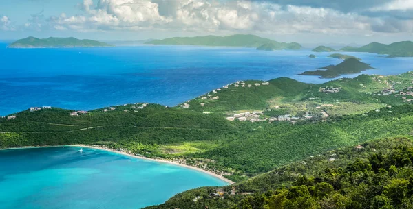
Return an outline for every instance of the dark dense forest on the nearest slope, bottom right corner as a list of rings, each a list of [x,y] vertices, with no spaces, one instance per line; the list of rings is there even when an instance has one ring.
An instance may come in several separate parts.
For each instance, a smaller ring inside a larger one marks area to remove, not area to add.
[[[234,186],[189,190],[148,208],[412,208],[412,160],[411,138],[385,138],[311,156]],[[217,191],[224,194],[217,197]]]

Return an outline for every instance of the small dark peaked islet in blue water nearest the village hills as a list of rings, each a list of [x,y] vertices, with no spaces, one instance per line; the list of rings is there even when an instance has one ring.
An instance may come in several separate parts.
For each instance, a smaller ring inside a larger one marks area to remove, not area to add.
[[[370,64],[360,62],[356,58],[348,58],[340,64],[325,66],[320,69],[326,70],[317,70],[317,71],[305,71],[299,75],[320,75],[321,78],[333,78],[339,77],[343,74],[354,74],[361,73],[361,71],[366,71],[369,69],[374,69]]]

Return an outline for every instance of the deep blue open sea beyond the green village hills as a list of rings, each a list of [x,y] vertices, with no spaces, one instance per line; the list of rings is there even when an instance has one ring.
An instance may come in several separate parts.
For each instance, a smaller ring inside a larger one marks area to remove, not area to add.
[[[239,47],[152,46],[6,49],[0,43],[0,115],[31,106],[92,110],[124,103],[175,106],[213,88],[244,79],[291,77],[302,82],[326,79],[297,75],[341,60],[309,50],[257,51]],[[380,70],[413,70],[413,58],[348,53]],[[357,75],[345,75],[354,77]]]

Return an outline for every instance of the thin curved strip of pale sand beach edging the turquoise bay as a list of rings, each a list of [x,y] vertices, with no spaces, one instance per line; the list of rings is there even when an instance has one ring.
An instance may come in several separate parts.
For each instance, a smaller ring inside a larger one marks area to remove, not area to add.
[[[123,151],[117,151],[117,150],[114,150],[114,149],[109,149],[107,147],[97,147],[97,146],[95,147],[95,146],[92,146],[92,145],[57,145],[57,146],[43,146],[43,147],[30,147],[30,146],[28,146],[28,147],[16,147],[16,148],[7,148],[7,149],[28,149],[28,148],[45,148],[45,147],[85,147],[85,148],[89,148],[89,149],[99,149],[99,150],[103,150],[103,151],[109,151],[109,152],[112,152],[112,153],[118,153],[118,154],[124,155],[124,156],[129,156],[131,158],[138,158],[138,159],[141,159],[141,160],[162,162],[162,163],[177,165],[177,166],[180,166],[180,167],[185,167],[187,169],[193,169],[193,170],[196,170],[196,171],[200,171],[202,173],[206,173],[206,174],[211,175],[213,177],[216,177],[216,178],[218,178],[218,179],[220,179],[220,180],[222,180],[222,181],[224,181],[228,184],[235,184],[235,182],[233,182],[229,179],[226,179],[222,175],[218,175],[218,174],[212,173],[210,171],[205,171],[204,169],[200,169],[198,167],[191,167],[187,164],[180,164],[178,162],[173,162],[173,161],[169,161],[169,160],[160,160],[160,159],[155,159],[155,158],[147,158],[145,156],[135,156],[135,155],[123,152]],[[7,149],[0,149],[0,150],[7,150]]]

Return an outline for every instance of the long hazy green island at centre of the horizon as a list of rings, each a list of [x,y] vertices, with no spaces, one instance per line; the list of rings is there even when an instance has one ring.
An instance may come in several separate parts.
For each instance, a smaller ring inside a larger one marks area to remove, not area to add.
[[[297,42],[277,42],[255,35],[174,37],[146,42],[149,45],[198,45],[218,47],[254,47],[260,50],[301,49]]]

